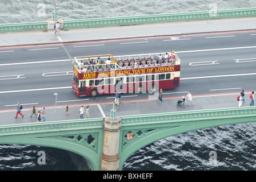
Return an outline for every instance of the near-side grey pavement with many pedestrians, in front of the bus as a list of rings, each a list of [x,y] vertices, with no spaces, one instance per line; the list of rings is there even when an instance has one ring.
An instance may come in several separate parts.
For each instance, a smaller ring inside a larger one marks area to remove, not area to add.
[[[249,95],[250,92],[245,92],[246,102],[242,104],[241,107],[250,106]],[[206,94],[206,95],[195,95],[193,96],[194,105],[191,103],[186,107],[177,106],[177,101],[181,98],[179,97],[167,97],[163,94],[163,101],[158,102],[158,97],[150,99],[141,99],[141,100],[126,100],[119,101],[119,106],[115,106],[117,109],[117,116],[123,115],[138,115],[138,114],[154,114],[154,113],[167,113],[175,111],[190,111],[190,110],[205,110],[205,109],[221,109],[221,108],[230,108],[238,107],[237,96],[239,93],[225,93],[225,94]],[[114,97],[114,95],[113,95]],[[79,109],[83,105],[85,108],[90,106],[90,118],[103,118],[103,114],[106,117],[110,117],[110,110],[113,107],[113,99],[109,99],[109,102],[103,103],[83,103],[83,104],[69,104],[70,114],[66,114],[66,105],[58,105],[51,107],[45,107],[46,110],[46,122],[50,121],[65,121],[70,119],[79,118]],[[22,103],[21,103],[22,105]],[[99,107],[100,105],[100,107]],[[254,106],[255,107],[255,106]],[[37,112],[42,110],[43,107],[36,107]],[[37,117],[32,114],[32,107],[26,108],[23,107],[22,114],[24,118],[19,117],[15,119],[16,110],[15,107],[13,110],[1,110],[0,111],[0,125],[12,125],[20,123],[36,123]],[[36,112],[36,113],[37,113]],[[103,114],[102,114],[103,112]],[[85,118],[85,114],[83,114]],[[86,120],[86,119],[85,119]],[[81,120],[84,121],[84,120]],[[43,122],[43,119],[41,120]]]

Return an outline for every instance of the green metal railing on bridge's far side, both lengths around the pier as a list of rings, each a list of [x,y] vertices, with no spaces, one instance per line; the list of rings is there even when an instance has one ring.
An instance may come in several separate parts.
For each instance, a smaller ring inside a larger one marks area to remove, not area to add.
[[[200,19],[237,18],[244,16],[256,16],[256,8],[253,7],[245,9],[209,10],[186,13],[64,20],[63,28],[68,29],[82,27],[124,26],[131,24],[175,22]],[[47,30],[47,22],[0,24],[0,32],[29,30]]]

